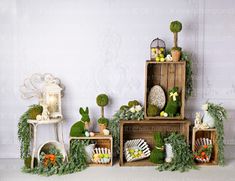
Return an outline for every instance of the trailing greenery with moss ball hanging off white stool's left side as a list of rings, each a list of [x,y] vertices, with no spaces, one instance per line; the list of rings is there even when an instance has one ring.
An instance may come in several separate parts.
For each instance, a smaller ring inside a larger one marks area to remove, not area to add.
[[[32,131],[28,119],[35,118],[37,114],[42,113],[42,106],[31,105],[29,109],[20,117],[18,123],[18,139],[20,141],[20,158],[26,159],[30,156],[30,141]]]

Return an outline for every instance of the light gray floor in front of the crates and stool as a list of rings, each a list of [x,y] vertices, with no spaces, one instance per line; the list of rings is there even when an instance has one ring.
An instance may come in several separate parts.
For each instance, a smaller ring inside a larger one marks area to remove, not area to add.
[[[90,167],[80,173],[42,177],[21,173],[19,159],[0,159],[0,181],[235,181],[234,149],[226,149],[226,166],[203,166],[185,173],[158,172],[155,167]]]

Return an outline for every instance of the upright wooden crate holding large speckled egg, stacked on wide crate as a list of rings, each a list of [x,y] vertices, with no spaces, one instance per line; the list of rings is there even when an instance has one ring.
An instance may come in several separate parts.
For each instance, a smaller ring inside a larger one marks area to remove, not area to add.
[[[186,63],[179,62],[152,62],[147,61],[145,64],[145,119],[184,119],[185,106],[185,70]],[[181,97],[180,116],[177,117],[149,117],[147,115],[148,94],[150,89],[160,85],[167,98],[167,92],[173,87],[178,87]]]

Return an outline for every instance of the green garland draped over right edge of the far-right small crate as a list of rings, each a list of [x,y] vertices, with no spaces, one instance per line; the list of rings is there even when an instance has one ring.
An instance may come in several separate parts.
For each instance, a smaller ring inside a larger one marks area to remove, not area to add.
[[[215,121],[215,128],[217,130],[217,144],[218,144],[218,164],[224,165],[224,124],[223,121],[227,119],[227,111],[220,105],[208,103],[208,113]]]

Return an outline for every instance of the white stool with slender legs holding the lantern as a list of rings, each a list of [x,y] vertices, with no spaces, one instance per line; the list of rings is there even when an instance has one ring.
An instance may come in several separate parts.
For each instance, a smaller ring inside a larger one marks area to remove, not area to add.
[[[37,144],[37,127],[39,125],[48,125],[48,124],[54,124],[54,130],[55,130],[55,136],[56,136],[56,140],[58,142],[60,142],[64,149],[65,149],[65,146],[64,146],[64,139],[63,139],[63,119],[62,118],[56,118],[56,119],[49,119],[49,120],[46,120],[46,121],[43,121],[43,120],[32,120],[32,119],[29,119],[27,122],[29,124],[31,124],[33,126],[33,150],[32,150],[32,159],[31,159],[31,168],[33,168],[34,166],[34,157],[35,157],[35,152],[36,152],[36,144]],[[61,127],[61,140],[60,140],[60,137],[59,137],[59,127]]]

